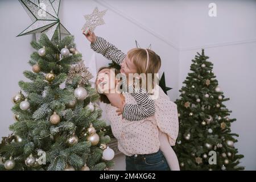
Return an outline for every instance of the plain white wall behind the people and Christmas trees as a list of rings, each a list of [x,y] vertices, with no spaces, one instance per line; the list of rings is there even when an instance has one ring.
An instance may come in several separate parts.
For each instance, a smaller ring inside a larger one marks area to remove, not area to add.
[[[166,73],[168,92],[172,101],[179,97],[178,90],[189,72],[191,60],[200,48],[214,64],[219,84],[224,90],[228,109],[237,121],[232,125],[240,134],[236,147],[246,169],[256,169],[255,134],[255,1],[214,1],[217,17],[208,16],[212,1],[82,1],[63,0],[60,20],[75,35],[77,48],[85,63],[93,51],[81,34],[85,23],[83,15],[91,13],[95,6],[108,9],[104,26],[97,27],[96,35],[102,36],[127,52],[135,47],[135,39],[142,47],[152,44],[152,49],[162,58],[160,72]],[[27,64],[33,51],[31,35],[16,38],[31,20],[18,1],[0,1],[0,84],[1,127],[0,136],[9,134],[8,127],[14,122],[10,108],[11,97],[18,92],[18,81],[24,80],[22,72],[31,69]],[[108,64],[96,55],[97,67]],[[115,159],[115,169],[125,169],[125,158]]]

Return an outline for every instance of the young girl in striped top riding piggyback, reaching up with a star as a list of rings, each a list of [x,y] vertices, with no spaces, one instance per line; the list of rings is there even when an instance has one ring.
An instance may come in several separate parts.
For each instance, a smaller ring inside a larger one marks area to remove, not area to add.
[[[129,73],[154,74],[158,73],[160,69],[160,57],[156,55],[154,51],[135,48],[131,49],[126,56],[115,46],[106,42],[106,40],[104,40],[103,38],[96,37],[94,33],[88,32],[88,34],[86,34],[85,36],[92,43],[91,47],[94,51],[101,53],[107,59],[113,60],[115,61],[115,63],[120,64],[121,73],[124,73],[126,76],[129,76]],[[154,77],[152,77],[152,81],[154,82]],[[172,170],[179,170],[179,163],[177,162],[177,157],[175,155],[175,152],[172,150],[172,147],[170,146],[170,144],[172,146],[175,144],[175,140],[177,137],[177,127],[174,131],[173,129],[171,129],[171,122],[164,121],[166,119],[171,119],[171,117],[160,118],[163,117],[163,114],[167,114],[170,112],[168,110],[163,110],[163,107],[160,106],[160,104],[162,104],[161,102],[170,104],[170,99],[168,98],[168,96],[165,98],[160,97],[160,99],[162,100],[159,100],[160,102],[155,103],[148,94],[147,90],[144,90],[142,88],[134,89],[134,85],[129,85],[129,90],[132,90],[132,96],[134,97],[137,104],[125,104],[125,102],[119,102],[120,104],[116,105],[118,107],[118,113],[122,113],[123,117],[128,121],[141,121],[142,119],[152,117],[153,115],[154,117],[157,116],[159,118],[158,120],[162,119],[163,121],[157,121],[160,150],[163,152],[165,158],[167,159],[170,168]],[[113,100],[111,98],[112,97],[109,97],[110,102],[116,102],[115,98],[113,98]],[[174,106],[174,109],[176,109],[176,105],[174,104],[174,102],[172,102],[171,104]],[[155,108],[155,105],[157,106],[157,108]],[[177,111],[175,114],[176,121],[173,122],[177,125]]]

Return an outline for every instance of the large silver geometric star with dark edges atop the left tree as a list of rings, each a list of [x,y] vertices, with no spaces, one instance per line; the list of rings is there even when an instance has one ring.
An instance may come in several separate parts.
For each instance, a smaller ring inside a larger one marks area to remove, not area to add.
[[[58,17],[60,0],[19,0],[19,2],[33,23],[17,36],[35,34],[36,40],[39,40],[41,34],[46,34],[49,40],[52,40],[53,34],[57,31],[61,40],[61,34],[70,34]]]

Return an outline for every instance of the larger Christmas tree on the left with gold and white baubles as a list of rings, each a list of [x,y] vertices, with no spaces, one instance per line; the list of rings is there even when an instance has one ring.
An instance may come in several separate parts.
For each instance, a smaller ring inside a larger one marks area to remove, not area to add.
[[[99,96],[73,36],[42,34],[31,46],[33,72],[24,71],[31,81],[19,81],[22,91],[13,98],[16,122],[3,137],[0,170],[109,169],[114,152],[94,104]]]

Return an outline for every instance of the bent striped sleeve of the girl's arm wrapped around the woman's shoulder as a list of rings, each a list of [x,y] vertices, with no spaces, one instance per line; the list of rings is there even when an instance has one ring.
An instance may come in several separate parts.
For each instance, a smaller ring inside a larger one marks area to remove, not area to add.
[[[146,119],[155,114],[155,102],[148,94],[147,90],[139,88],[135,90],[133,86],[129,86],[129,92],[133,92],[137,104],[126,104],[123,107],[123,118],[128,121],[139,121]]]

